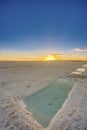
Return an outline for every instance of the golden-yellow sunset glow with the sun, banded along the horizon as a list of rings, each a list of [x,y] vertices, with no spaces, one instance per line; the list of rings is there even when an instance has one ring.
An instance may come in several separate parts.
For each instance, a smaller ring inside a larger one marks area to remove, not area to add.
[[[56,55],[56,54],[29,54],[24,52],[0,52],[0,61],[56,61],[82,60],[87,61],[87,55]]]

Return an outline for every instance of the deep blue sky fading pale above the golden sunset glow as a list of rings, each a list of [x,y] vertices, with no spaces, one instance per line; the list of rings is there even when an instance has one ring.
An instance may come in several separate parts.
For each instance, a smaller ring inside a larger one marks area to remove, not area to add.
[[[50,53],[87,56],[87,0],[0,0],[1,57]]]

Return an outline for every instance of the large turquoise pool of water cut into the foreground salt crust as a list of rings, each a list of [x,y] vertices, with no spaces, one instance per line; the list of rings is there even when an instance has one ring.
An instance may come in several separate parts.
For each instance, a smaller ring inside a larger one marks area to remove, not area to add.
[[[72,80],[59,79],[24,99],[33,117],[43,127],[49,125],[53,116],[62,107],[73,84]]]

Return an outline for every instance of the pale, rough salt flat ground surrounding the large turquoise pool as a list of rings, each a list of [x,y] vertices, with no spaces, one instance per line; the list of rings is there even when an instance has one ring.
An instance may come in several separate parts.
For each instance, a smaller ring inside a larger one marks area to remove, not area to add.
[[[87,64],[87,62],[0,62],[1,129],[44,129],[32,117],[32,114],[27,110],[22,99],[46,87],[55,79],[69,77],[71,72],[85,66],[85,64]],[[76,127],[74,128],[74,126],[76,126],[75,122],[77,117],[80,118],[80,124],[81,120],[83,124],[87,121],[87,79],[75,80],[77,80],[76,87],[73,87],[72,94],[70,94],[69,99],[67,99],[67,103],[64,103],[61,112],[57,113],[46,129],[77,130]],[[75,120],[73,119],[74,116],[72,116],[73,112],[76,116]],[[82,116],[77,116],[78,113]],[[68,121],[69,119],[70,122]],[[76,123],[78,124],[78,121]],[[70,127],[70,125],[72,125],[72,127]]]

